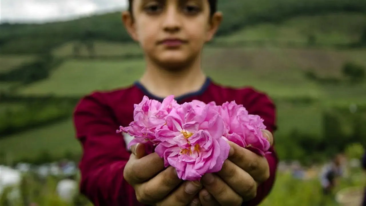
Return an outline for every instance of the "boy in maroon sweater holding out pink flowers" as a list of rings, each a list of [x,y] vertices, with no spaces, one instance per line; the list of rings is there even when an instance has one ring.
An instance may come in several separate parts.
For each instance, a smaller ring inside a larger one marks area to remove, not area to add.
[[[131,137],[115,133],[133,121],[134,104],[144,95],[162,100],[175,95],[178,103],[194,99],[221,105],[235,100],[250,114],[260,115],[273,143],[275,106],[252,88],[222,87],[201,70],[203,44],[211,40],[222,15],[216,0],[130,0],[122,15],[130,36],[141,45],[146,71],[128,88],[95,92],[74,112],[76,136],[83,147],[81,192],[94,205],[258,205],[275,179],[277,156],[265,157],[230,143],[223,169],[201,181],[181,181],[173,168],[164,168],[156,153],[144,145],[126,150]]]

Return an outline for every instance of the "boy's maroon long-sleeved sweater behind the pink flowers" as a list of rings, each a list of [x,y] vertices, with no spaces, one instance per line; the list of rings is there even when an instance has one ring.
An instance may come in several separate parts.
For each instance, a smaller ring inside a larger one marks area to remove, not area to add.
[[[120,125],[128,126],[133,121],[134,104],[141,102],[146,95],[151,99],[162,100],[150,94],[141,84],[117,89],[111,92],[94,92],[84,97],[76,106],[74,124],[76,137],[83,147],[80,162],[81,193],[96,206],[139,206],[134,189],[124,180],[123,169],[130,152],[121,134],[116,133]],[[209,78],[205,85],[194,93],[177,97],[178,103],[224,102],[235,100],[238,104],[264,119],[271,132],[276,130],[275,105],[264,93],[252,88],[234,89],[213,83]],[[127,139],[126,139],[127,140]],[[257,197],[243,205],[258,205],[269,194],[276,175],[278,158],[273,150],[266,155],[270,166],[270,178],[258,187]]]

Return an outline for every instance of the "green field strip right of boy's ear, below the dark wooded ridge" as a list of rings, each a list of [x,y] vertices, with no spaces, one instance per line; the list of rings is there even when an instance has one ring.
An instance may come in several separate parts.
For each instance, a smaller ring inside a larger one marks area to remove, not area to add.
[[[340,21],[341,19],[341,21]],[[366,25],[366,15],[332,13],[297,16],[280,23],[261,23],[247,26],[229,36],[218,37],[215,42],[279,45],[307,45],[313,36],[315,45],[346,45],[359,41]]]

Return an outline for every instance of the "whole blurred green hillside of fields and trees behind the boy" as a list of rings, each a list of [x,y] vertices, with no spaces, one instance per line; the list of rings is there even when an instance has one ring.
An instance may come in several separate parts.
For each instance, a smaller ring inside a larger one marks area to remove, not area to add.
[[[220,84],[252,86],[275,100],[281,158],[320,161],[366,144],[365,74],[343,72],[366,71],[365,0],[230,0],[219,9],[224,22],[204,48],[203,69]],[[0,29],[0,156],[15,161],[44,150],[79,154],[76,102],[131,84],[145,67],[120,12]],[[22,142],[29,147],[19,150]]]

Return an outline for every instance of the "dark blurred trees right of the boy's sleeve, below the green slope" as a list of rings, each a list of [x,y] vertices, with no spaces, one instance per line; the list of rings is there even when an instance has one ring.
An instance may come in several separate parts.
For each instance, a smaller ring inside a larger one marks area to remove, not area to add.
[[[352,144],[366,146],[366,107],[355,114],[348,108],[323,112],[323,132],[314,136],[294,129],[287,137],[278,137],[276,150],[281,160],[298,160],[305,165],[323,162]],[[344,124],[348,122],[348,124]],[[349,153],[349,151],[348,151]]]

